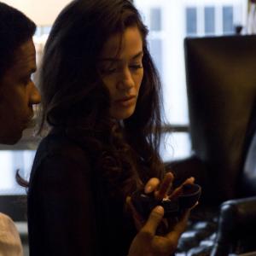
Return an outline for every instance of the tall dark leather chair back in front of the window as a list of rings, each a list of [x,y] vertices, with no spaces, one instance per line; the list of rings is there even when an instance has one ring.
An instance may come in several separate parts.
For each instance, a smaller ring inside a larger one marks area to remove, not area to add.
[[[256,35],[185,38],[184,52],[192,149],[229,199],[256,118]]]

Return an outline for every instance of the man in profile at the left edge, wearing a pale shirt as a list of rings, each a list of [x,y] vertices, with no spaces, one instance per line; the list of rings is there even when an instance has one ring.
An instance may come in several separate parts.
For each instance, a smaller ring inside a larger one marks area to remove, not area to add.
[[[32,105],[40,102],[31,79],[36,71],[35,30],[26,15],[0,2],[0,143],[20,140],[32,119]],[[22,254],[14,222],[0,213],[0,255]]]

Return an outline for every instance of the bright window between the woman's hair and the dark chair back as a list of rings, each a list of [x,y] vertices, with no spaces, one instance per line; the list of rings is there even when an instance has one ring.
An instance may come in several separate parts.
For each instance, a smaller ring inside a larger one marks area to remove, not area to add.
[[[191,154],[186,98],[183,38],[234,33],[246,25],[247,0],[134,0],[149,28],[149,50],[164,90],[166,129],[161,145],[163,160]]]

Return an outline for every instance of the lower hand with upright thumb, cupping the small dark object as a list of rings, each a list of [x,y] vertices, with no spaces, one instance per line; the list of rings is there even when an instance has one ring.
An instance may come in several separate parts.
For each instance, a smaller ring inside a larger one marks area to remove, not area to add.
[[[183,213],[177,224],[165,236],[155,235],[163,220],[164,208],[155,207],[137,236],[131,242],[128,256],[170,256],[177,248],[177,241],[186,228],[189,211]]]

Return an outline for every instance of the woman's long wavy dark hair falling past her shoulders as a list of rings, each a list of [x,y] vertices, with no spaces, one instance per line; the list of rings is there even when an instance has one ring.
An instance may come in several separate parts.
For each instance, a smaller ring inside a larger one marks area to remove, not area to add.
[[[97,60],[106,40],[131,26],[137,26],[143,38],[144,75],[135,112],[117,122],[108,113],[108,90]],[[64,128],[68,137],[86,148],[110,195],[129,195],[149,177],[163,174],[158,153],[160,78],[148,52],[147,34],[131,1],[77,0],[61,11],[44,49],[40,131],[46,121]]]

